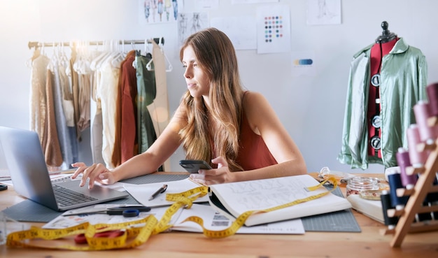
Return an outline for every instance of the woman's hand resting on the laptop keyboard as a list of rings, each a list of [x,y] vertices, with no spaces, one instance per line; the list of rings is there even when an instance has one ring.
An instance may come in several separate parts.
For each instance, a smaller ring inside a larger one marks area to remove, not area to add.
[[[94,187],[94,182],[99,182],[102,185],[113,185],[117,180],[115,180],[113,173],[109,169],[106,168],[103,164],[92,164],[91,166],[85,165],[83,162],[76,162],[71,164],[73,168],[76,169],[75,173],[71,175],[71,179],[75,179],[78,175],[83,174],[80,179],[80,186],[83,187],[87,179],[90,179],[88,182],[88,188]]]

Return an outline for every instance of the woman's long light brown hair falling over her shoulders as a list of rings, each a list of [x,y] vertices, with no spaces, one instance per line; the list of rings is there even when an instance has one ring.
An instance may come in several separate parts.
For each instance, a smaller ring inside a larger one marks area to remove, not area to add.
[[[243,88],[234,46],[227,35],[215,28],[204,29],[189,36],[181,48],[188,46],[195,51],[197,65],[210,79],[209,98],[211,110],[207,110],[202,96],[194,98],[185,92],[181,99],[187,110],[188,124],[180,131],[187,159],[211,159],[222,156],[227,159],[230,171],[242,171],[236,163],[239,152],[240,122]],[[211,137],[209,118],[218,122]]]

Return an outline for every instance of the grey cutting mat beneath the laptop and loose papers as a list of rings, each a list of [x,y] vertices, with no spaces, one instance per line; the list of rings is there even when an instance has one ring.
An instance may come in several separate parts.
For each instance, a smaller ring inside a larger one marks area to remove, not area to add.
[[[120,182],[126,182],[130,184],[148,184],[153,182],[169,182],[175,180],[183,180],[188,178],[188,175],[175,175],[175,174],[150,174],[150,175],[142,175],[136,178],[130,178],[127,180],[122,180]],[[132,196],[129,196],[125,199],[119,199],[115,201],[108,201],[108,204],[138,204]],[[62,212],[52,210],[45,206],[42,206],[38,203],[35,203],[31,200],[24,200],[20,203],[15,204],[14,206],[10,206],[4,210],[2,210],[6,216],[10,217],[13,220],[17,220],[20,222],[50,222],[50,220],[55,219]]]

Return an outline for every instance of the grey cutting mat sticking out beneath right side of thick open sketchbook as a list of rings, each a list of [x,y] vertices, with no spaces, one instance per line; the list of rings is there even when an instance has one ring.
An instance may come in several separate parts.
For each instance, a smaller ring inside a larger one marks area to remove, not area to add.
[[[330,187],[327,187],[329,189]],[[344,198],[341,189],[334,189],[332,192]],[[305,231],[327,231],[327,232],[360,232],[358,221],[351,209],[339,210],[334,213],[325,213],[309,217],[302,217]]]

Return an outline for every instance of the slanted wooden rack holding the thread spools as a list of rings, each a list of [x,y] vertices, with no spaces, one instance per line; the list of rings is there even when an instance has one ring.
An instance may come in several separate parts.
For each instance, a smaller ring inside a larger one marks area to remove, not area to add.
[[[430,117],[428,119],[429,126],[438,125],[438,117]],[[391,247],[398,248],[402,245],[404,236],[408,233],[418,233],[424,231],[438,230],[438,217],[435,220],[425,222],[414,222],[416,214],[438,212],[438,204],[432,206],[423,206],[425,197],[429,193],[438,192],[438,185],[433,185],[433,182],[438,172],[438,138],[435,143],[417,145],[417,150],[429,151],[428,159],[425,165],[421,168],[407,167],[407,174],[418,174],[418,180],[412,189],[397,189],[397,196],[409,196],[409,199],[402,210],[390,209],[387,211],[388,217],[399,217],[394,229],[384,229],[381,234],[394,234],[393,240],[390,242]]]

